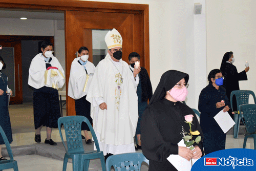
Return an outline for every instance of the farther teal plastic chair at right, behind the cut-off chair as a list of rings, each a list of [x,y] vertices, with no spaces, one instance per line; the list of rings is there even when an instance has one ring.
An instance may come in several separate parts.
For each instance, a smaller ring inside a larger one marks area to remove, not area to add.
[[[250,91],[250,90],[232,91],[231,94],[230,94],[230,104],[231,104],[232,111],[233,111],[233,99],[232,99],[233,95],[236,96],[237,109],[239,109],[239,106],[241,104],[248,104],[249,103],[249,95],[253,96],[254,103],[256,103],[256,97],[255,97],[255,94],[253,93],[253,91]],[[234,124],[234,138],[238,138],[240,119],[241,119],[240,114],[234,114],[234,122],[236,123],[236,124]]]

